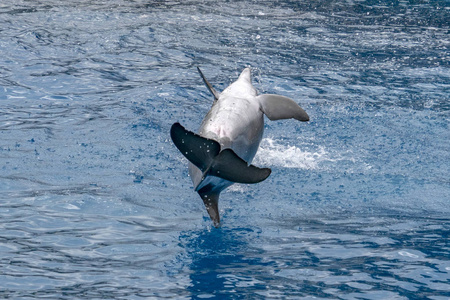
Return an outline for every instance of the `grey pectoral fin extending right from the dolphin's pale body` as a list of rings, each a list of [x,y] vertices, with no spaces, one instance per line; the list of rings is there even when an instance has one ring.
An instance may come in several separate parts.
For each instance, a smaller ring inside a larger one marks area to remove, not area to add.
[[[309,121],[309,116],[294,100],[275,94],[257,96],[263,113],[272,121],[281,119],[296,119]]]

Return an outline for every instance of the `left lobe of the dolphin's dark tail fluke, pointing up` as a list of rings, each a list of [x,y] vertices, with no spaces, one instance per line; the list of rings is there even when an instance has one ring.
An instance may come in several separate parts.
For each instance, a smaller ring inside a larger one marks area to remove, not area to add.
[[[175,146],[197,168],[205,171],[220,152],[220,144],[186,130],[180,123],[170,128],[170,137]]]

